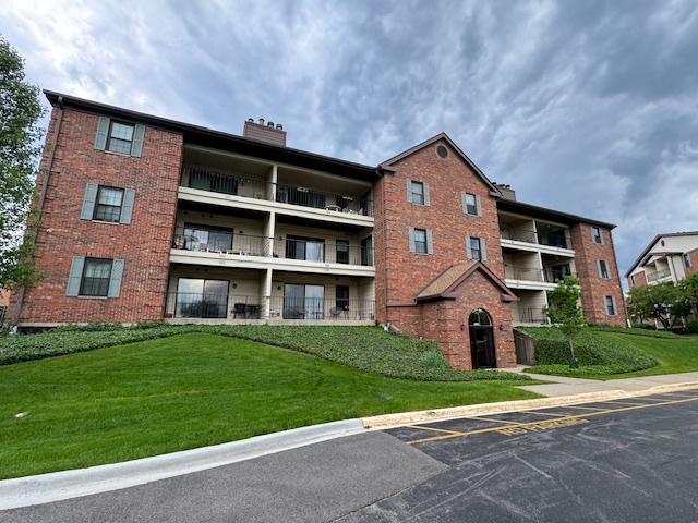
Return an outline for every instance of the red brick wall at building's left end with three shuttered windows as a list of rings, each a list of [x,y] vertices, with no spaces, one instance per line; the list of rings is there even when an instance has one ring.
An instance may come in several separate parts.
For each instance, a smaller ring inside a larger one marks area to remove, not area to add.
[[[56,144],[57,115],[47,144]],[[47,278],[27,290],[21,325],[163,317],[183,137],[146,127],[141,158],[109,154],[94,148],[98,118],[64,111],[36,240]],[[135,190],[131,224],[81,220],[87,183]],[[124,259],[120,297],[67,297],[73,256]]]

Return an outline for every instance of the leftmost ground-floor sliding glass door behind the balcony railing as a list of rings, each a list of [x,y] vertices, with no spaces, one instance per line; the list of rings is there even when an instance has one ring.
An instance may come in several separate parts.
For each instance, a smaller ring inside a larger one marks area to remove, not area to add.
[[[180,278],[177,282],[178,318],[226,318],[228,316],[228,280]]]

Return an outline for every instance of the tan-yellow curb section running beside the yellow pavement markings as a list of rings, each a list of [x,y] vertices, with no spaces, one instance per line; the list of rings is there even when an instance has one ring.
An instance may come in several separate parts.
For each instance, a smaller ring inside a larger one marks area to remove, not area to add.
[[[698,382],[657,385],[649,389],[638,391],[603,390],[586,392],[574,396],[561,396],[554,398],[537,398],[534,400],[503,401],[500,403],[482,403],[479,405],[453,406],[435,409],[433,411],[406,412],[398,414],[385,414],[382,416],[364,417],[363,426],[366,429],[386,429],[420,422],[436,422],[467,417],[483,414],[502,414],[505,412],[526,411],[529,409],[549,409],[553,406],[573,405],[576,403],[589,403],[592,401],[618,400],[623,398],[637,398],[658,392],[673,392],[698,388]]]

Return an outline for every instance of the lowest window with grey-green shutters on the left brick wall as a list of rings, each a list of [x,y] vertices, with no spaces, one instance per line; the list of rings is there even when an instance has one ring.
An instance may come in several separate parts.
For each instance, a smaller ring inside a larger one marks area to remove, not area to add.
[[[123,265],[123,259],[74,256],[65,295],[119,297]]]

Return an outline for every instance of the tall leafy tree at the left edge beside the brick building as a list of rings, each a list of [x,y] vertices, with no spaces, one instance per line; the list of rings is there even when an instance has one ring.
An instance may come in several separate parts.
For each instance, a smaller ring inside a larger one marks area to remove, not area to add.
[[[24,60],[0,35],[0,290],[32,284],[38,216],[32,211],[45,110]]]

